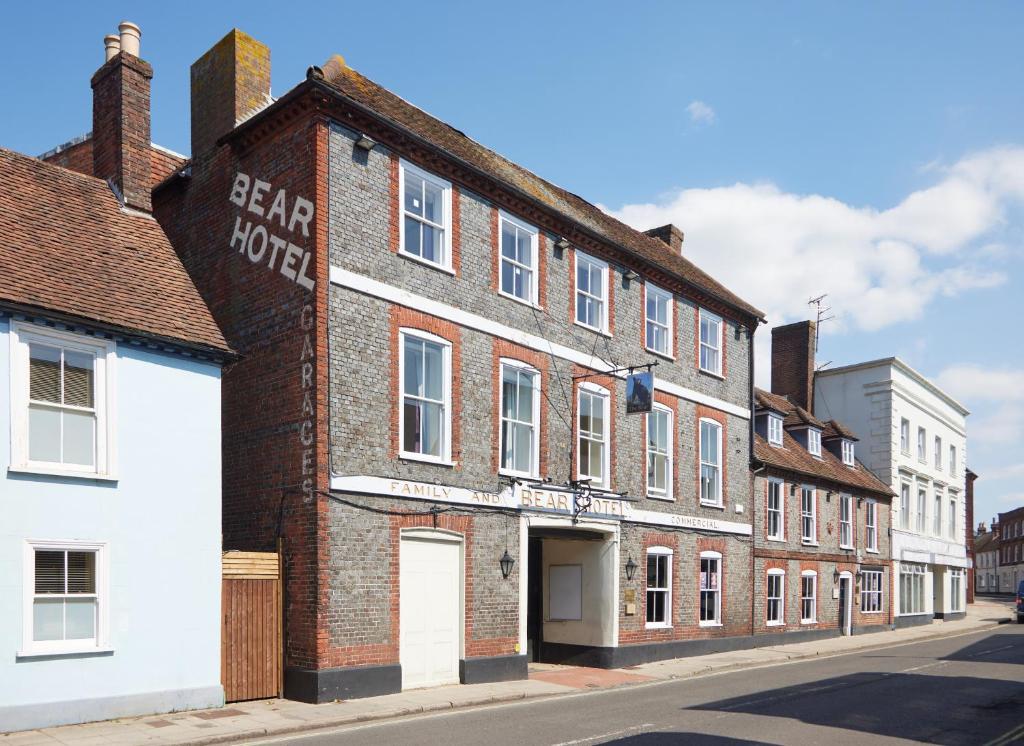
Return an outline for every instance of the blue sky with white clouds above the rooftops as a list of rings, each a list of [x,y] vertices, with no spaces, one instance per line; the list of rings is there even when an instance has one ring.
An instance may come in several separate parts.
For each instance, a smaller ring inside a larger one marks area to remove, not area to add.
[[[976,522],[1024,504],[1024,3],[19,3],[0,145],[90,128],[102,37],[153,63],[153,138],[187,153],[188,65],[232,27],[281,95],[334,53],[684,253],[819,363],[898,355],[970,410]],[[767,386],[768,328],[757,335]]]

